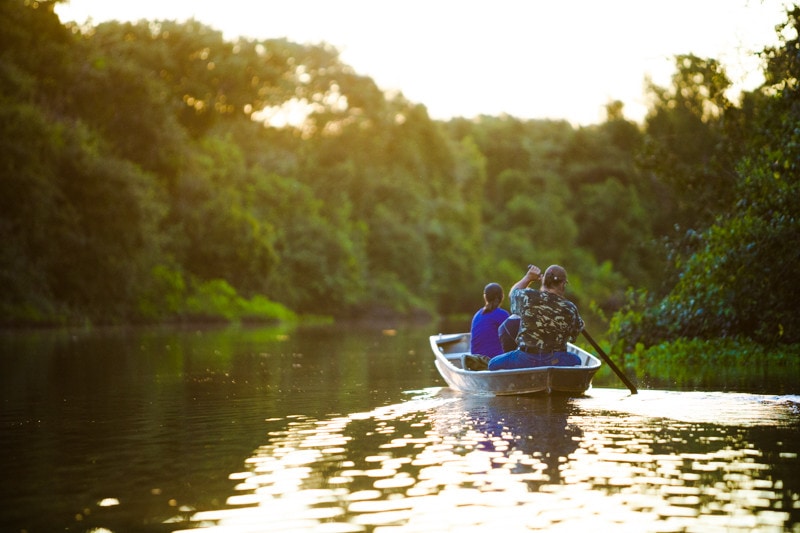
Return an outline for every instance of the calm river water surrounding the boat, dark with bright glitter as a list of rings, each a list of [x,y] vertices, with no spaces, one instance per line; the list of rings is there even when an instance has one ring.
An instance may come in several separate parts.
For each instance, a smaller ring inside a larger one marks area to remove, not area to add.
[[[436,328],[0,333],[0,530],[800,531],[798,376],[469,397]]]

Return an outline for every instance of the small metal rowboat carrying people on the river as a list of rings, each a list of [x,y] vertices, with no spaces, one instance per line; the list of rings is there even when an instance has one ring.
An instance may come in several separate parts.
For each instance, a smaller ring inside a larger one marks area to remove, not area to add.
[[[509,395],[532,393],[583,394],[592,385],[602,362],[586,350],[567,344],[567,351],[581,358],[579,366],[540,366],[514,370],[467,370],[469,333],[431,335],[434,364],[447,384],[473,394]]]

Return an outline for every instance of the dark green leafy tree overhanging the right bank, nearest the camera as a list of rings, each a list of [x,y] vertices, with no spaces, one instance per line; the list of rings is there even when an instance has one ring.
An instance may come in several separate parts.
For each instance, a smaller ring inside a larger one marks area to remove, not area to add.
[[[785,26],[782,46],[765,52],[761,97],[749,100],[759,107],[749,110],[754,130],[737,166],[736,209],[696,236],[696,251],[676,264],[679,280],[667,297],[640,298],[615,318],[621,345],[734,336],[800,342],[800,9],[788,12]]]

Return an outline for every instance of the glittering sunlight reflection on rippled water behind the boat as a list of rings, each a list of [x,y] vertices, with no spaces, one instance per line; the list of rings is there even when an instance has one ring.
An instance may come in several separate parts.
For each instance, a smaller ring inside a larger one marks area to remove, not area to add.
[[[211,531],[798,530],[796,398],[414,391],[270,420]],[[766,429],[768,442],[757,441]]]

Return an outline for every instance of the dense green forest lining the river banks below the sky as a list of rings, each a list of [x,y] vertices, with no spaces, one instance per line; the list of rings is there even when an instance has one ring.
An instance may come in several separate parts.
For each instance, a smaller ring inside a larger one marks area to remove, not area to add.
[[[586,127],[436,121],[324,44],[53,7],[0,2],[4,325],[468,316],[535,261],[622,350],[800,342],[797,7],[762,87],[678,55],[643,124]]]

